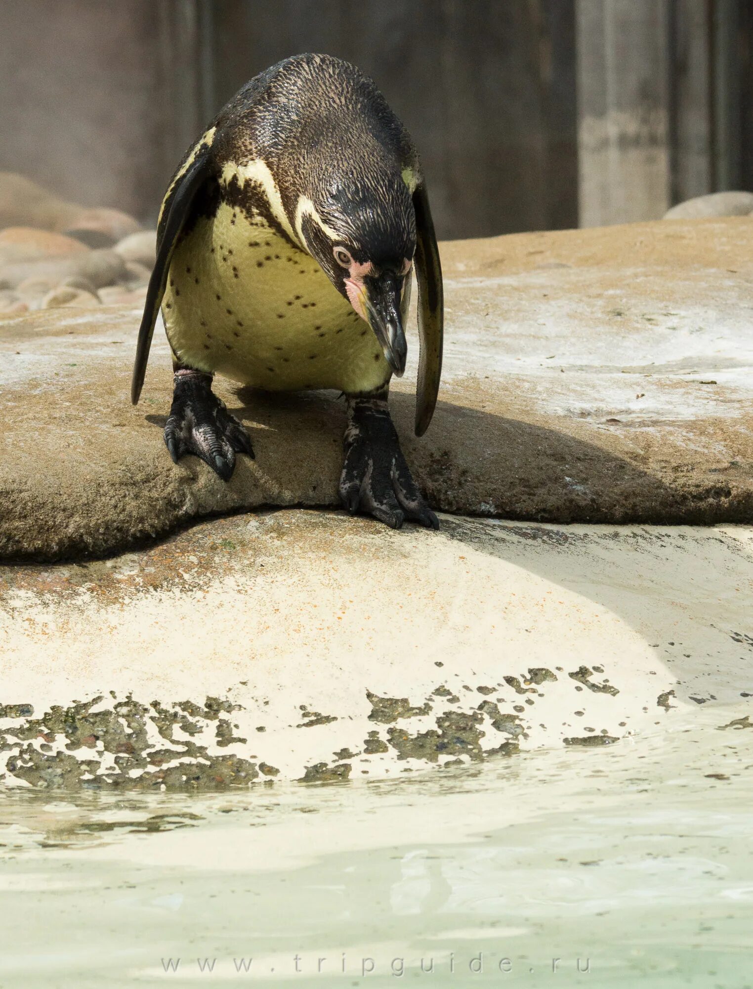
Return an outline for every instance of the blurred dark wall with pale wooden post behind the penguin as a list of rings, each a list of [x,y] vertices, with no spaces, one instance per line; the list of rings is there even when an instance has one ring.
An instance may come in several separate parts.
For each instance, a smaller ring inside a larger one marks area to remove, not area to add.
[[[753,188],[750,0],[3,0],[0,170],[153,221],[180,155],[297,51],[372,75],[443,237]]]

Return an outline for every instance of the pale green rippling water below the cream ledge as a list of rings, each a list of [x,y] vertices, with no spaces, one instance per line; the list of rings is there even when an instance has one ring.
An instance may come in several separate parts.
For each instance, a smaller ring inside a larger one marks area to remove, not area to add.
[[[389,782],[3,793],[0,986],[753,986],[724,720]]]

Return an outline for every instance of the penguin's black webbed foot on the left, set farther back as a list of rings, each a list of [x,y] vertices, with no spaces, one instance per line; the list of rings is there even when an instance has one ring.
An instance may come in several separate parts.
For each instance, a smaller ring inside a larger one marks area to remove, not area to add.
[[[236,453],[254,458],[248,433],[211,391],[211,375],[201,371],[180,369],[175,374],[165,444],[174,464],[193,453],[223,481],[232,476]]]

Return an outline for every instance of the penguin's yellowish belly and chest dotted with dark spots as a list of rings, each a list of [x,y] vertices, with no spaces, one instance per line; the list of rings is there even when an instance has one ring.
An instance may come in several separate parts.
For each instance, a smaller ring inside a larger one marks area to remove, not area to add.
[[[316,261],[224,202],[177,245],[162,312],[179,361],[246,385],[353,394],[389,379],[374,331]]]

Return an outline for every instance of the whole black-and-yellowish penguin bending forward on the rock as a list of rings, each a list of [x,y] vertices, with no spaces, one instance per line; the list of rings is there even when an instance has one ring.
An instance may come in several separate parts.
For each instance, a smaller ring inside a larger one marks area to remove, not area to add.
[[[174,392],[165,442],[228,480],[253,457],[211,391],[215,373],[269,392],[336,389],[347,403],[340,498],[393,528],[437,528],[387,407],[405,370],[415,262],[420,363],[415,432],[437,402],[443,292],[413,141],[375,83],[321,54],[248,82],[170,181],[138,333],[131,401],[162,308]]]

